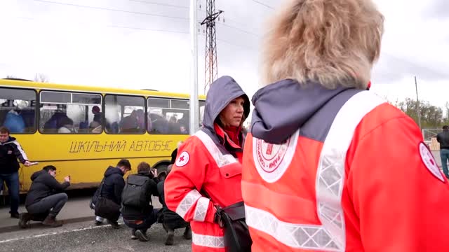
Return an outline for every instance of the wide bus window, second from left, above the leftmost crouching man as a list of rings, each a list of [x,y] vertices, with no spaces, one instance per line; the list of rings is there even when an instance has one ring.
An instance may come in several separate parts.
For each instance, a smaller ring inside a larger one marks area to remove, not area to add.
[[[41,91],[39,131],[50,134],[102,132],[100,94]]]

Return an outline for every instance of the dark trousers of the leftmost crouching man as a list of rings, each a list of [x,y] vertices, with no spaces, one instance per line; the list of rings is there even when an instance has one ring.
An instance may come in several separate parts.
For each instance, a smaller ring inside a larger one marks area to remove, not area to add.
[[[57,193],[48,197],[44,197],[39,202],[31,204],[27,207],[29,214],[43,214],[50,211],[52,216],[57,216],[64,207],[69,197],[65,193]]]

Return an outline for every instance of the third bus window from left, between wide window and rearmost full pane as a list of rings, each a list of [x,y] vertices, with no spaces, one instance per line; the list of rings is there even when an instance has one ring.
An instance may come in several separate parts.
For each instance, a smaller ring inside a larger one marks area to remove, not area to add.
[[[107,94],[105,97],[106,133],[145,133],[145,98]]]

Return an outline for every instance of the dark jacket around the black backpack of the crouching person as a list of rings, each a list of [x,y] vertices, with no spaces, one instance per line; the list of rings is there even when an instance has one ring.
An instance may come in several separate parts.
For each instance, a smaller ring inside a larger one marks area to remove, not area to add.
[[[149,190],[147,191],[147,204],[144,209],[138,209],[135,207],[128,207],[123,206],[121,209],[121,214],[123,215],[123,218],[126,220],[143,220],[145,218],[148,218],[153,211],[153,204],[152,204],[152,195],[153,196],[159,196],[159,193],[157,191],[157,183],[159,182],[159,179],[152,178],[150,174],[147,173],[139,173],[135,174],[137,176],[147,176],[150,178],[149,180]]]

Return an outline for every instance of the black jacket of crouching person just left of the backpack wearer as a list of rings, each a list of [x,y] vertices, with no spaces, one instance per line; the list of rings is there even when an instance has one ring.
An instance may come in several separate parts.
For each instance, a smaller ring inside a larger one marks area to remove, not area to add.
[[[105,182],[101,191],[102,197],[105,197],[116,204],[121,204],[121,193],[125,187],[125,180],[123,179],[123,172],[117,167],[109,166],[105,172]],[[99,195],[100,187],[95,195]]]

